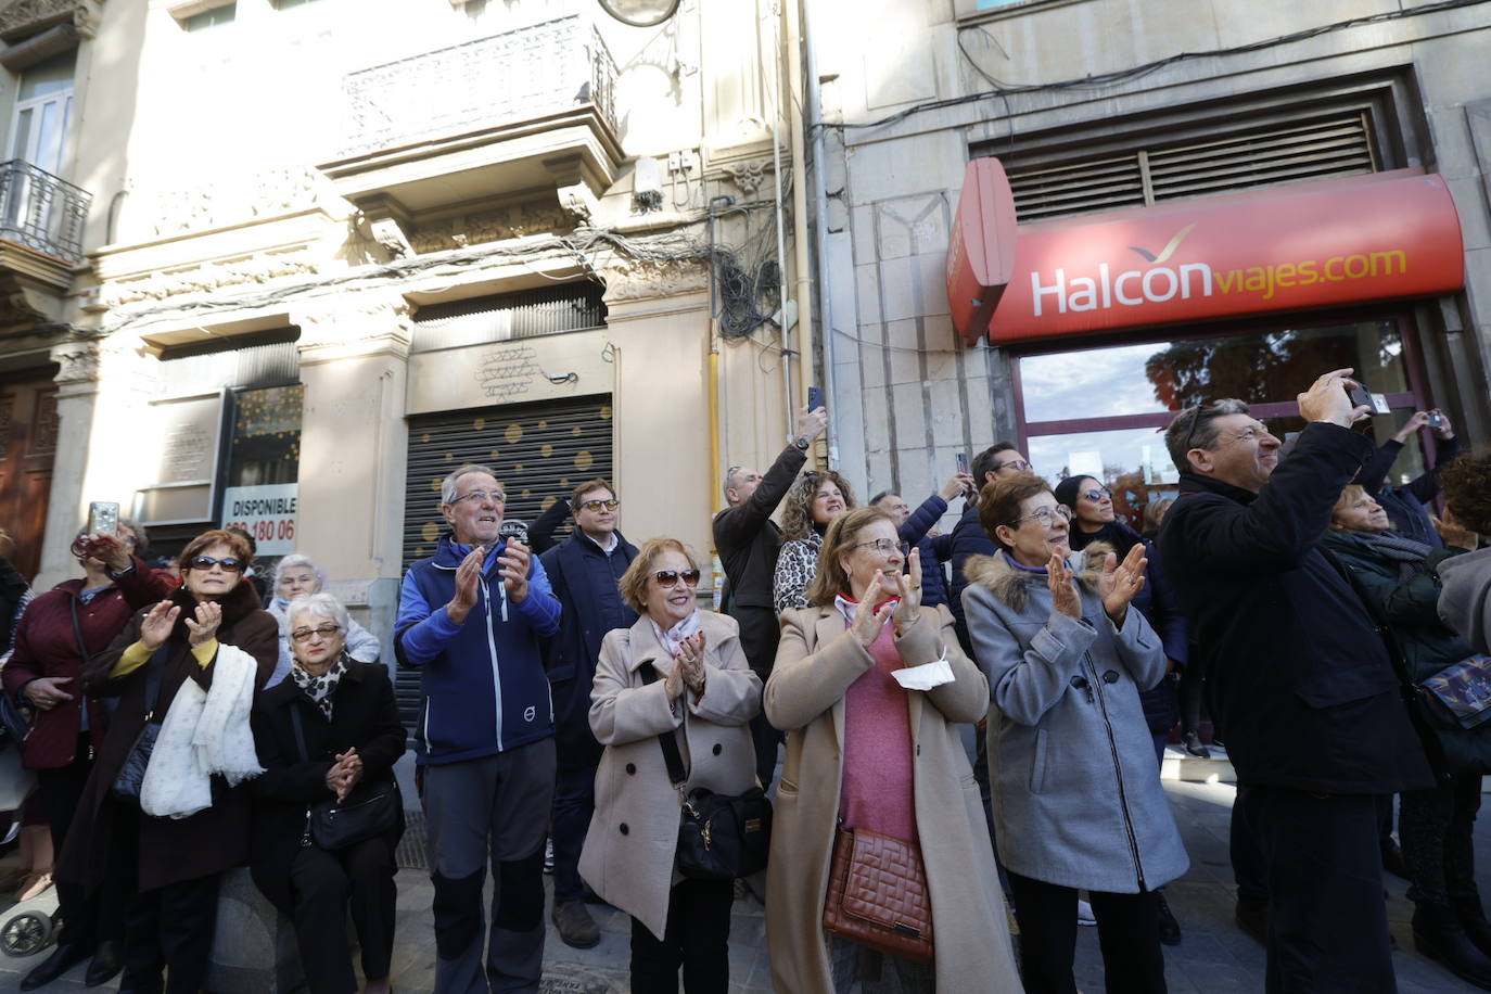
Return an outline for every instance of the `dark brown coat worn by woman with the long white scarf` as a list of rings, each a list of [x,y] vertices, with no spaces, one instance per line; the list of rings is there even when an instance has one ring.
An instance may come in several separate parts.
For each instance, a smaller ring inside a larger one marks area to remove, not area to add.
[[[182,617],[176,620],[166,642],[170,653],[155,705],[155,715],[163,720],[183,683],[195,680],[203,690],[210,690],[213,674],[218,672],[216,659],[206,669],[198,666],[186,642],[186,615],[195,610],[195,598],[186,587],[176,587],[170,599],[182,607]],[[259,595],[248,581],[240,581],[219,604],[222,624],[218,627],[218,642],[234,645],[255,659],[259,671],[253,687],[261,690],[279,660],[279,623],[259,608]],[[78,815],[67,830],[67,842],[57,864],[61,879],[85,887],[104,879],[110,846],[103,836],[116,830],[116,818],[139,821],[140,890],[212,876],[243,863],[249,855],[249,784],[228,788],[225,781],[215,778],[212,808],[189,818],[151,818],[140,812],[139,805],[118,802],[109,793],[134,741],[145,729],[149,663],[124,677],[109,674],[124,650],[140,639],[140,623],[146,614],[148,610],[139,611],[109,648],[79,669],[83,693],[91,697],[118,697],[109,732],[92,773],[88,775],[82,800],[78,802]]]

